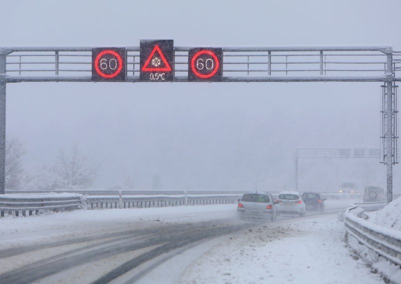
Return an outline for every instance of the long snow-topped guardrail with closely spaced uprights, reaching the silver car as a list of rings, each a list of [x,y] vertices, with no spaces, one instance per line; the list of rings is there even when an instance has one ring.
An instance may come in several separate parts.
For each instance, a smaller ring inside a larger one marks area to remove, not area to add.
[[[242,194],[177,194],[177,195],[91,195],[86,201],[95,208],[144,208],[180,205],[232,204],[237,203]]]

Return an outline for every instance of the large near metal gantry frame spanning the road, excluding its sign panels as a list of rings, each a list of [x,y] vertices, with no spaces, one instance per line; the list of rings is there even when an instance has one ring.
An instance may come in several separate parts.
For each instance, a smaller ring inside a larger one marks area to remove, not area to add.
[[[92,81],[92,48],[103,46],[0,47],[0,193],[5,192],[7,82]],[[127,50],[125,82],[139,82],[139,46]],[[216,46],[221,47],[221,46]],[[188,51],[174,46],[173,81],[188,81]],[[401,51],[390,45],[226,46],[222,82],[379,81],[387,86],[385,164],[387,201],[392,199],[392,82],[401,81]],[[393,58],[393,55],[397,58]],[[298,157],[296,158],[296,160]],[[297,161],[296,161],[297,164]],[[296,167],[297,168],[297,167]]]

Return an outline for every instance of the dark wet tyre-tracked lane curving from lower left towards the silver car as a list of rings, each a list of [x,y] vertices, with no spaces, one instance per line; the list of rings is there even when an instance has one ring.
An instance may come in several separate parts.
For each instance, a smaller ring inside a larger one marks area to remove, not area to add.
[[[65,252],[46,257],[23,265],[17,269],[0,274],[1,283],[27,283],[43,279],[49,275],[60,273],[65,269],[78,267],[87,263],[96,263],[111,256],[134,252],[140,249],[143,253],[129,259],[114,269],[107,271],[104,275],[94,280],[94,283],[104,283],[129,271],[139,264],[163,253],[182,247],[186,244],[196,242],[209,237],[216,237],[229,232],[238,231],[251,226],[251,223],[236,222],[235,220],[222,219],[212,222],[185,223],[177,225],[159,225],[152,228],[129,230],[114,234],[94,235],[84,238],[71,238],[49,244],[40,244],[27,247],[10,248],[0,251],[3,261],[10,261],[10,257],[35,251],[52,248],[57,251],[59,247],[70,246]],[[100,240],[100,241],[99,241]],[[93,243],[95,242],[95,243]],[[77,243],[84,244],[76,248]],[[149,249],[146,249],[149,248]],[[102,271],[100,271],[102,272]]]

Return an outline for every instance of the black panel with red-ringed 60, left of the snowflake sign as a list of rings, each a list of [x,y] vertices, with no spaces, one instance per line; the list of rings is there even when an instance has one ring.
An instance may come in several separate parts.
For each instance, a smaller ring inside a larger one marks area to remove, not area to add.
[[[127,73],[126,54],[125,48],[93,48],[92,80],[124,81]]]

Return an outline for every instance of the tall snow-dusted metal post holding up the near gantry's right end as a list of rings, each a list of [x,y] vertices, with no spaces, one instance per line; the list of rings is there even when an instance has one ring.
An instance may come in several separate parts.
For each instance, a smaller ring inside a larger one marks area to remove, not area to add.
[[[386,87],[387,87],[387,100],[386,100],[386,131],[385,131],[385,163],[386,163],[386,175],[387,175],[387,203],[392,201],[392,50],[387,54],[387,70],[386,70]]]

